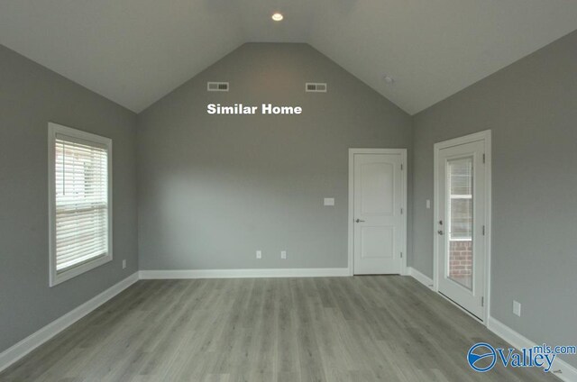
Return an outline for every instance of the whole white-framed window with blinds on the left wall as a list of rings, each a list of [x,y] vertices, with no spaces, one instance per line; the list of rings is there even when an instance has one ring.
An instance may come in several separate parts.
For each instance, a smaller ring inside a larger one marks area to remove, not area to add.
[[[50,123],[52,285],[112,259],[112,142]]]

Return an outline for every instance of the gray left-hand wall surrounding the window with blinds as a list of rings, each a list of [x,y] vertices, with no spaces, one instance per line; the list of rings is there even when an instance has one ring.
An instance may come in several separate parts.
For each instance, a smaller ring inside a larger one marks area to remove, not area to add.
[[[114,260],[51,288],[49,121],[114,141]],[[0,45],[0,352],[138,269],[135,129],[132,112]]]

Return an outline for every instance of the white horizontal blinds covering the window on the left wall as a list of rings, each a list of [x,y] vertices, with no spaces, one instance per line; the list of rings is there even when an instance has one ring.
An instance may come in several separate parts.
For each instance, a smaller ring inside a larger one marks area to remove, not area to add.
[[[56,270],[108,252],[108,151],[56,134]]]

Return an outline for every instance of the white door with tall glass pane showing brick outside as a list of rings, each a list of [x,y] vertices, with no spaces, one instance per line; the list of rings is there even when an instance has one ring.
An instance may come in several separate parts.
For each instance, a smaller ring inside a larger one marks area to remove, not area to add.
[[[484,319],[485,141],[437,151],[437,288]]]

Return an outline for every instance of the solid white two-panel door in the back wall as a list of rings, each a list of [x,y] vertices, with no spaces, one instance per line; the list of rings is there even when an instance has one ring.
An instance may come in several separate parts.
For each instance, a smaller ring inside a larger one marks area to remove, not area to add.
[[[404,151],[353,155],[354,274],[401,272]]]

